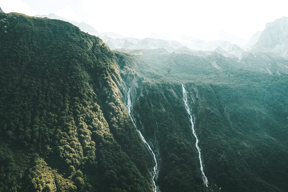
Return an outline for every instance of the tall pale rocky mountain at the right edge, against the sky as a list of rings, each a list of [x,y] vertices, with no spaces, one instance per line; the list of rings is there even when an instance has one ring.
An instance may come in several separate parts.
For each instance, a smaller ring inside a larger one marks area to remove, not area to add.
[[[258,42],[251,47],[251,52],[271,52],[282,57],[288,56],[288,18],[282,17],[267,23]]]

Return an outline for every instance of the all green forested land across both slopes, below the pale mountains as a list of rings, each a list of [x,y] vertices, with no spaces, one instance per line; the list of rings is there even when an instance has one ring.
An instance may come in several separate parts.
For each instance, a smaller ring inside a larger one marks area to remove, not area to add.
[[[67,22],[0,14],[0,191],[154,191],[128,88],[162,192],[288,191],[288,61],[261,55],[112,52]]]

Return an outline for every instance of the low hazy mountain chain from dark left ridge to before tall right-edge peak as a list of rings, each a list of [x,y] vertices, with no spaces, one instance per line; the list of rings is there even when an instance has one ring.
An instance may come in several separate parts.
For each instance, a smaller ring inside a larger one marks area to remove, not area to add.
[[[101,38],[112,50],[116,49],[127,49],[127,50],[137,50],[137,49],[161,49],[164,48],[168,52],[172,53],[184,53],[183,51],[179,51],[181,47],[187,47],[192,50],[201,50],[204,52],[196,51],[193,54],[196,55],[208,55],[210,54],[209,51],[213,51],[217,49],[217,47],[221,47],[227,54],[225,56],[229,57],[240,57],[243,50],[238,45],[232,44],[228,41],[211,41],[206,43],[203,40],[200,40],[196,37],[181,35],[178,40],[168,40],[171,38],[169,35],[159,35],[157,33],[149,34],[150,37],[156,38],[145,38],[145,39],[137,39],[126,37],[124,35],[113,33],[113,32],[105,32],[99,33],[95,28],[92,26],[81,22],[77,23],[75,21],[71,21],[65,19],[63,17],[56,16],[55,14],[49,15],[36,15],[35,17],[47,17],[50,19],[58,19],[63,20],[69,23],[72,23],[75,26],[78,26],[81,31],[88,32],[91,35],[96,35]],[[192,54],[189,51],[189,54]]]

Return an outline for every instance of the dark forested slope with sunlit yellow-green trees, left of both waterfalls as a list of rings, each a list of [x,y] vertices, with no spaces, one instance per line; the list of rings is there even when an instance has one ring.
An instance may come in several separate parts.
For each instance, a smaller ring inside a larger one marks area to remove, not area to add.
[[[0,14],[0,191],[152,191],[121,81],[98,37]]]

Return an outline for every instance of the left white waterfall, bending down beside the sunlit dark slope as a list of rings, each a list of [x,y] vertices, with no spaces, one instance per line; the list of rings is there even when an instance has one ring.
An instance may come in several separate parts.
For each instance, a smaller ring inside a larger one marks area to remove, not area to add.
[[[131,106],[132,106],[132,103],[131,103],[131,97],[130,97],[130,88],[128,89],[128,93],[127,93],[127,97],[128,97],[128,102],[127,102],[127,108],[128,108],[128,113],[132,119],[132,116],[131,116]],[[153,155],[153,159],[154,159],[154,162],[155,162],[155,166],[153,167],[153,176],[152,176],[152,181],[153,181],[153,185],[154,185],[154,191],[155,192],[159,192],[159,190],[157,189],[157,185],[156,185],[156,175],[157,175],[157,168],[158,168],[158,164],[157,164],[157,159],[156,159],[156,155],[155,153],[152,151],[150,145],[147,143],[147,141],[145,140],[145,138],[143,137],[142,133],[137,129],[133,119],[132,119],[132,122],[136,128],[136,130],[138,131],[142,141],[146,144],[146,146],[148,147],[148,149],[151,151],[152,155]]]

